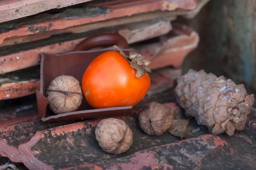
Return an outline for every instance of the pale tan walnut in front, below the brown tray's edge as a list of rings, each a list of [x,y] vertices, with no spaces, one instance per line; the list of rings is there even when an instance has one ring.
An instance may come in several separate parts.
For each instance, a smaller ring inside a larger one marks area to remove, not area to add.
[[[97,125],[95,135],[99,146],[107,153],[124,153],[133,142],[130,127],[120,119],[103,119]]]

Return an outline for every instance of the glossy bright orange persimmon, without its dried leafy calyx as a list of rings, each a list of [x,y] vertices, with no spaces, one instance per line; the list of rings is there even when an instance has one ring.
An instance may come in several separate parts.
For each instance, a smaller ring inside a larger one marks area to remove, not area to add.
[[[119,51],[107,51],[84,71],[81,87],[88,104],[98,109],[134,106],[145,97],[150,84],[147,72],[137,78],[136,69]]]

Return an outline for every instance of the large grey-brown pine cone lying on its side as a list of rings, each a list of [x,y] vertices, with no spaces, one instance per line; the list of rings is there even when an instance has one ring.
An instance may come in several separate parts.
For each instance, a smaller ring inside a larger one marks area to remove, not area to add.
[[[243,130],[254,101],[244,85],[236,85],[224,76],[216,77],[204,70],[189,70],[177,79],[175,96],[186,116],[195,117],[212,134]]]

